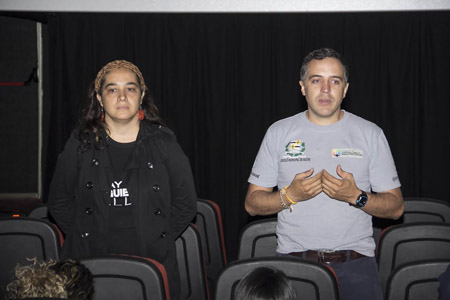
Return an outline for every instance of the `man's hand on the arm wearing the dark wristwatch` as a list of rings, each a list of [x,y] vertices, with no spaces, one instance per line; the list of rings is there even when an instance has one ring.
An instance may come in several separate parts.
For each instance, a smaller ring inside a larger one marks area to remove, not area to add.
[[[322,172],[322,189],[330,198],[355,204],[356,199],[361,194],[353,178],[353,174],[342,170],[341,165],[337,166],[336,173],[342,179],[332,176],[327,171]]]

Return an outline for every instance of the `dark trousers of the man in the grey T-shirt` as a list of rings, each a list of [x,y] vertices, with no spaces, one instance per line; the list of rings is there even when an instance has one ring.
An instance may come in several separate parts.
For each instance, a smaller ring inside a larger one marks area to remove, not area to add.
[[[298,256],[277,253],[277,256]],[[336,272],[341,300],[383,300],[375,257],[363,257],[343,263],[331,263]]]

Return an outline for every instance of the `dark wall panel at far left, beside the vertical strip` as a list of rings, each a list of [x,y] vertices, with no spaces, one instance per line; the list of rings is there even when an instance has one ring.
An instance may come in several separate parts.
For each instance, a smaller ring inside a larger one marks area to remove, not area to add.
[[[14,85],[38,66],[36,41],[36,22],[0,17],[0,194],[38,193],[38,85]]]

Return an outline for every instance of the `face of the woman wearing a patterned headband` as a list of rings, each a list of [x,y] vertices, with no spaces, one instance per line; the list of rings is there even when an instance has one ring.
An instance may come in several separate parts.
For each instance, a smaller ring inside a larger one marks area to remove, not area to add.
[[[143,97],[144,92],[141,93],[136,74],[127,68],[108,72],[102,89],[97,94],[97,100],[104,108],[107,124],[137,121]]]

